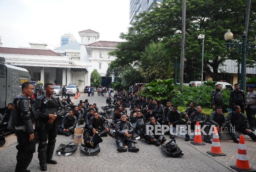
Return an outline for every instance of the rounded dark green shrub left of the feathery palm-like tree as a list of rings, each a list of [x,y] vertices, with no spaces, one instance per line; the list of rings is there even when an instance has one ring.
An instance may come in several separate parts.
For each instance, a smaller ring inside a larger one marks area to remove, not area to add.
[[[135,69],[133,67],[130,67],[123,72],[121,80],[122,85],[125,87],[134,85],[134,83],[147,83],[148,81],[146,77],[141,75],[139,69]]]

